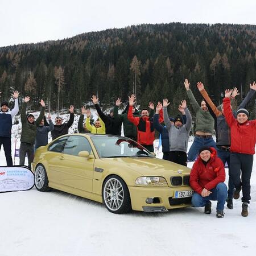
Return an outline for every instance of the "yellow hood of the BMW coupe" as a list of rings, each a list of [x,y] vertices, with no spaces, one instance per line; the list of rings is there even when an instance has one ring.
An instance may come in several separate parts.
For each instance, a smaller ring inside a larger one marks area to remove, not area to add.
[[[102,161],[118,167],[119,170],[130,169],[140,176],[189,175],[191,169],[180,164],[158,158],[101,158]]]

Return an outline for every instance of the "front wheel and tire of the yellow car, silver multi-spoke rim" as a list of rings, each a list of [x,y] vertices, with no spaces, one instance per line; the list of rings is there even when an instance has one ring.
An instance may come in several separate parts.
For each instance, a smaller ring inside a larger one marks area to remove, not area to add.
[[[129,190],[125,181],[117,175],[110,175],[104,181],[102,199],[109,212],[122,214],[131,211]]]

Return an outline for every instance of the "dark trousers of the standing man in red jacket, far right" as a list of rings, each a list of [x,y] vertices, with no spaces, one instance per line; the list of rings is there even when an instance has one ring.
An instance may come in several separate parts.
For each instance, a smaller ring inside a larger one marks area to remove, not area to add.
[[[234,187],[241,188],[242,186],[242,202],[250,203],[250,179],[251,171],[253,170],[253,155],[232,152],[230,154],[230,168],[230,174],[234,183]],[[240,176],[242,176],[242,181]]]

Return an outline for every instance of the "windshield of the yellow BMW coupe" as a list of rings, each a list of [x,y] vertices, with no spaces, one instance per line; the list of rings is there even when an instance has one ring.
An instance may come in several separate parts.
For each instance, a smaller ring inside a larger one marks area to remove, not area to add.
[[[91,137],[100,158],[150,157],[154,158],[143,146],[125,137]]]

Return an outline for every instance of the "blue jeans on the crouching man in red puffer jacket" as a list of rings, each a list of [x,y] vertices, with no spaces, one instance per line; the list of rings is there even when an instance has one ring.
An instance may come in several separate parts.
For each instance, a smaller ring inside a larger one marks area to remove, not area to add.
[[[218,201],[217,210],[223,210],[228,194],[225,183],[218,183],[217,186],[210,190],[212,193],[209,196],[203,197],[199,193],[194,193],[192,196],[193,207],[204,207],[210,200]]]

